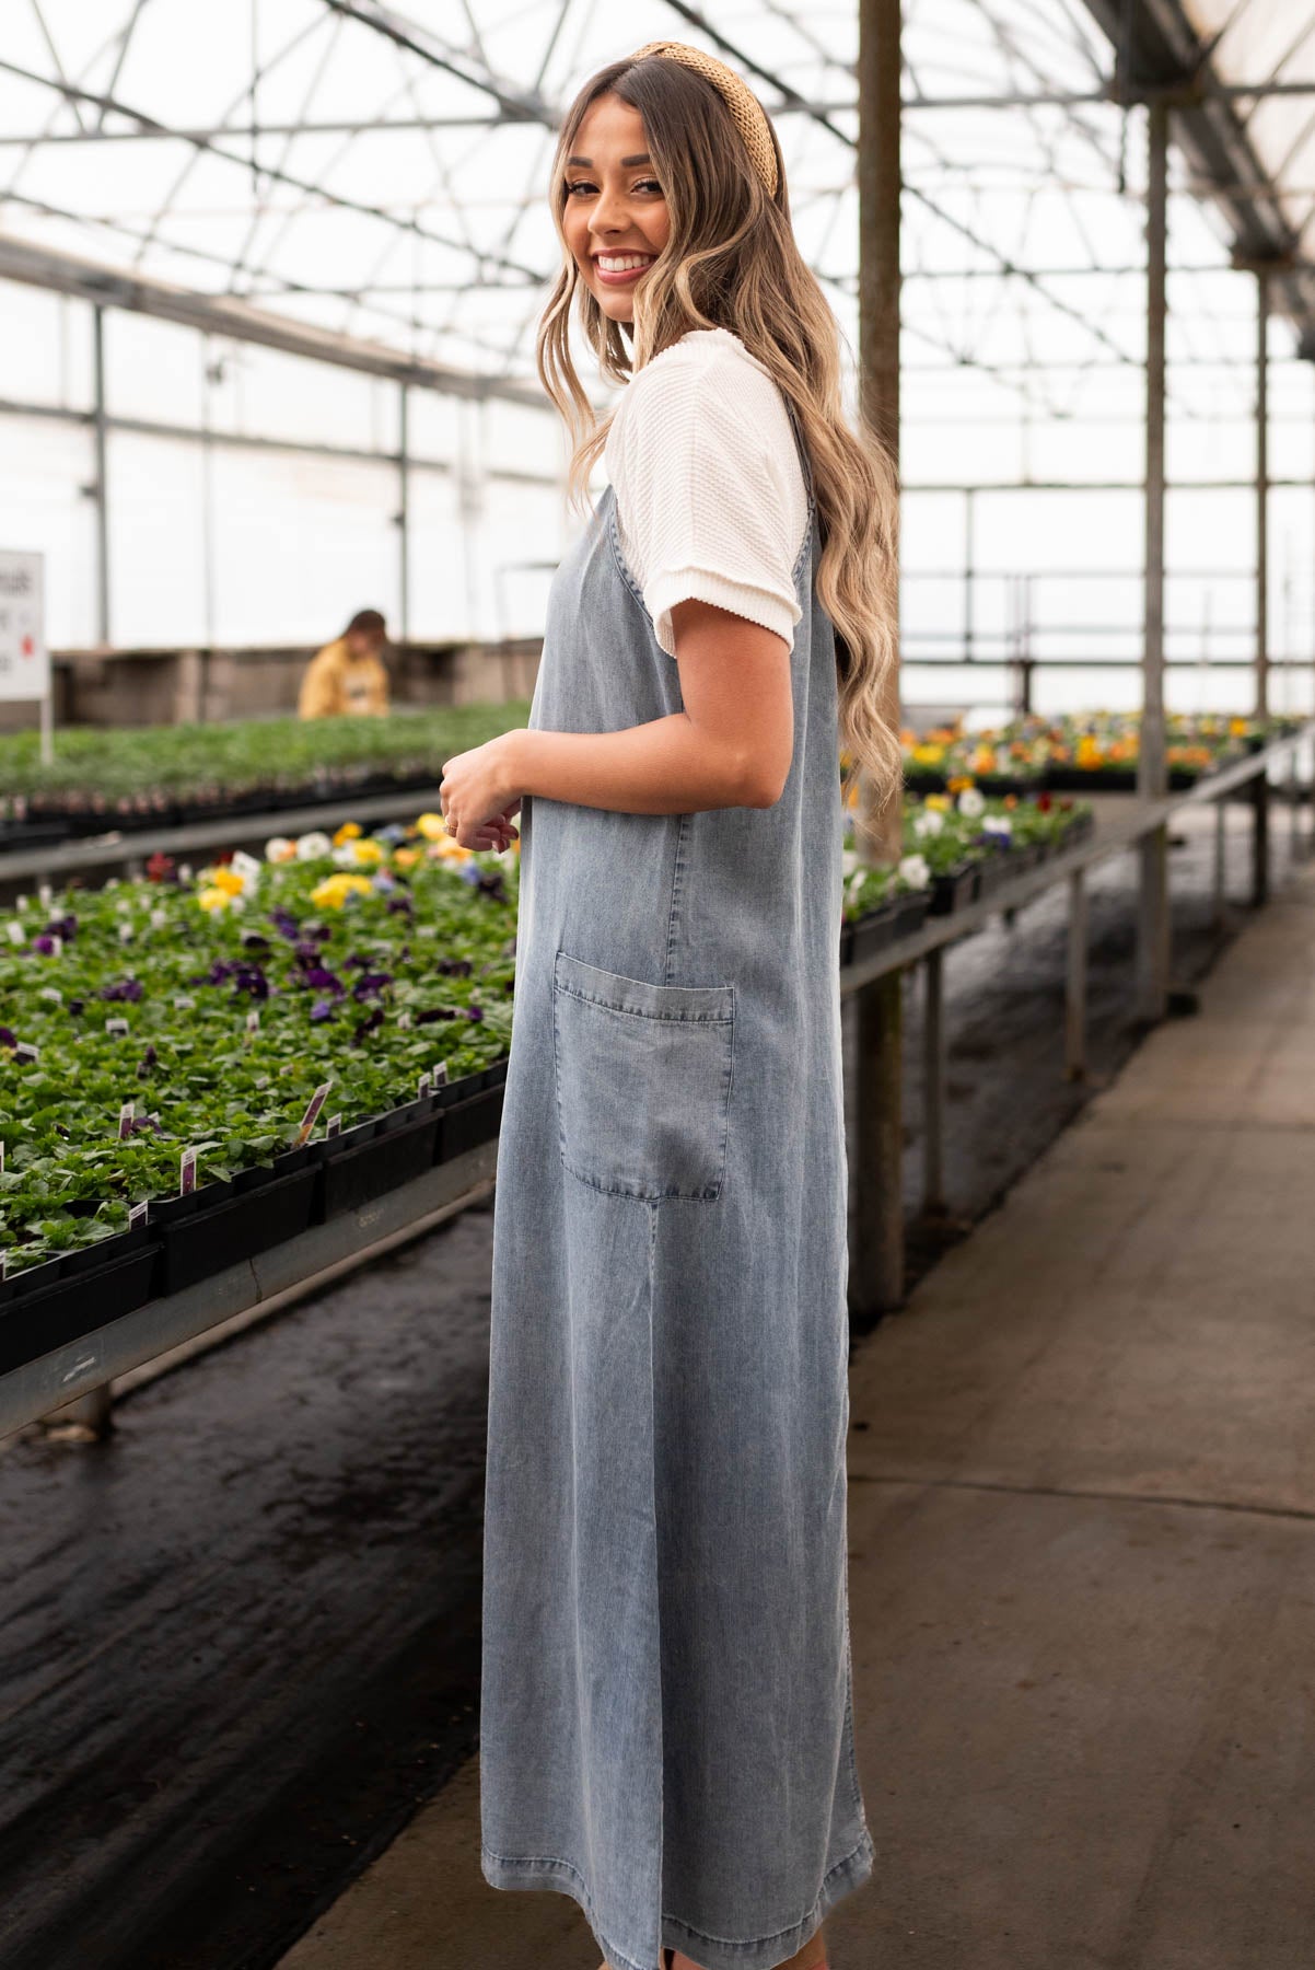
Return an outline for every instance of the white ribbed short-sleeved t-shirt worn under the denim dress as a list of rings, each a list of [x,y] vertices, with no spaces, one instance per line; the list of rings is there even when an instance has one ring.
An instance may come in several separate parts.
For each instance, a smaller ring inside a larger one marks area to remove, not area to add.
[[[728,329],[693,329],[638,370],[602,463],[626,565],[675,656],[671,609],[717,603],[793,650],[807,489],[772,374]]]

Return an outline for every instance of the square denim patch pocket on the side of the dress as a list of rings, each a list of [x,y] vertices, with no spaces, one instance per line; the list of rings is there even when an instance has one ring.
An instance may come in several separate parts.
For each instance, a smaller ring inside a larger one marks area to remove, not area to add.
[[[622,1198],[720,1196],[734,985],[648,985],[557,952],[553,1074],[571,1176]]]

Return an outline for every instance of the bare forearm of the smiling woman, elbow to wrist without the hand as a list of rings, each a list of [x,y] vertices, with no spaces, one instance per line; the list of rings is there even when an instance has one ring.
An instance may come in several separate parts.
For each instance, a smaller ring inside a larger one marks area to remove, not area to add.
[[[780,786],[756,753],[705,733],[687,711],[614,733],[514,731],[516,794],[612,808],[620,814],[697,814],[770,808]]]

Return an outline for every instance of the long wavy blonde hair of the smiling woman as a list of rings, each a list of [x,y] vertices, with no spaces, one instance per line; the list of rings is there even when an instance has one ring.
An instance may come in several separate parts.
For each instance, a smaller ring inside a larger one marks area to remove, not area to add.
[[[565,160],[585,112],[608,91],[644,118],[671,221],[665,248],[634,292],[632,343],[581,280],[561,223]],[[730,329],[770,370],[797,412],[813,467],[823,542],[817,593],[837,636],[841,743],[884,806],[904,782],[900,733],[886,709],[898,660],[898,477],[876,431],[862,420],[854,431],[845,418],[839,323],[795,242],[776,130],[772,144],[776,197],[713,83],[654,55],[598,69],[567,110],[553,158],[561,270],[539,319],[537,370],[571,433],[569,492],[585,508],[614,412],[596,416],[575,370],[573,307],[608,382],[626,382],[691,329]]]

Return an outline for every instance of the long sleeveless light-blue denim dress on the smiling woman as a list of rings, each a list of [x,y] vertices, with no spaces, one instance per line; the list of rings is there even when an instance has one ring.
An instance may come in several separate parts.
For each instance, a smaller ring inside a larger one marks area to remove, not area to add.
[[[528,798],[494,1202],[482,1872],[612,1970],[785,1962],[872,1872],[852,1741],[841,796],[817,512],[772,808]],[[681,709],[608,487],[532,727]]]

